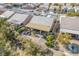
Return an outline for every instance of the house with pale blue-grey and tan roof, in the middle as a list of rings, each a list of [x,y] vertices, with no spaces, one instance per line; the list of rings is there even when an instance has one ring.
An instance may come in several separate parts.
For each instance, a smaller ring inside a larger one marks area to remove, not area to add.
[[[54,21],[55,21],[54,18],[47,18],[43,16],[33,16],[33,18],[26,25],[26,27],[29,27],[31,29],[40,30],[40,31],[49,32],[52,30]]]

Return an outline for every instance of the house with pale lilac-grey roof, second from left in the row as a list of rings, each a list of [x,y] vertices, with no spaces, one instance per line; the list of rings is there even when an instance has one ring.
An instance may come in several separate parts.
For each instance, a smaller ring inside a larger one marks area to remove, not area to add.
[[[31,15],[16,13],[8,20],[8,22],[13,23],[13,24],[17,24],[17,25],[27,24],[31,18],[32,18]]]

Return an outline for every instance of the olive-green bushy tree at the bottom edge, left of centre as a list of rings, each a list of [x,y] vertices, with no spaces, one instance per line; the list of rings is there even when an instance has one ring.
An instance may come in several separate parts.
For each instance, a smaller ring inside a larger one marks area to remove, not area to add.
[[[40,50],[41,50],[40,47],[37,46],[36,44],[34,44],[31,40],[29,40],[28,42],[29,42],[29,48],[25,49],[25,51],[26,51],[25,53],[27,55],[34,55],[34,56],[39,54]]]

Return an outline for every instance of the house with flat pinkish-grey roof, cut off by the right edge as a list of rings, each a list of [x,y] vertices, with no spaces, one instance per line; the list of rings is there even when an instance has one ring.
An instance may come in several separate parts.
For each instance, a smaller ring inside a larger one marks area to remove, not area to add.
[[[61,17],[60,32],[74,34],[79,39],[79,17]]]

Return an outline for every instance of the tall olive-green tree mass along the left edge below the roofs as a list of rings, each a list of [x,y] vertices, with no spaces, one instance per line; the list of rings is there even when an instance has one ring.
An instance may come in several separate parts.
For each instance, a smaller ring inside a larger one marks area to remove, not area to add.
[[[12,48],[10,39],[14,38],[14,33],[11,31],[10,25],[4,20],[0,19],[0,55],[11,55]],[[7,45],[8,44],[8,45]]]

